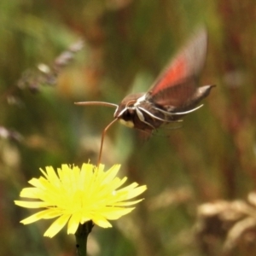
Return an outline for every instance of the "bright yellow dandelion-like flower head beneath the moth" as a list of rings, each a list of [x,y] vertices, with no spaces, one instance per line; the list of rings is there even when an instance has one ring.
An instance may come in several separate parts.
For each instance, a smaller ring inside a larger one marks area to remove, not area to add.
[[[62,165],[57,169],[58,175],[52,166],[46,167],[46,172],[40,171],[44,177],[32,178],[29,183],[32,188],[22,189],[20,197],[39,201],[15,201],[15,204],[26,208],[45,208],[32,216],[20,221],[22,224],[31,224],[41,218],[56,218],[46,230],[44,236],[53,237],[65,224],[67,234],[74,234],[79,224],[92,220],[102,228],[112,227],[108,222],[112,219],[131,212],[141,200],[128,201],[140,195],[147,189],[145,185],[137,183],[119,189],[127,177],[116,177],[119,165],[104,172],[104,166],[91,164],[78,166]]]

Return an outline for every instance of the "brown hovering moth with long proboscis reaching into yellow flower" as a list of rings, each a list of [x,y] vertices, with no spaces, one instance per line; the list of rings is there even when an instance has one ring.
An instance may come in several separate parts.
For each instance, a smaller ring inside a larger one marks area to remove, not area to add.
[[[149,136],[160,126],[177,122],[185,114],[201,108],[202,105],[198,107],[198,103],[215,86],[211,84],[197,87],[206,56],[207,30],[201,28],[169,62],[147,92],[125,96],[119,105],[109,102],[77,102],[78,105],[116,108],[113,121],[102,132],[98,163],[101,160],[105,133],[116,120]]]

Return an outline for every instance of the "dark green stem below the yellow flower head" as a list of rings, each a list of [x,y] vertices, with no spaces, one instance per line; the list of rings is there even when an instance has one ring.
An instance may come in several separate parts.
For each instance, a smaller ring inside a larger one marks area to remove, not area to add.
[[[79,224],[79,228],[75,233],[77,241],[77,253],[78,256],[86,256],[87,248],[87,237],[92,230],[93,223],[92,221],[85,222],[84,224]]]

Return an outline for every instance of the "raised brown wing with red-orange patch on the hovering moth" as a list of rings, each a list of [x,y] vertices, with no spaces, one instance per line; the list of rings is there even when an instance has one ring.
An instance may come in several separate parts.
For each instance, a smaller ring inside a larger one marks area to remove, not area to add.
[[[201,28],[167,65],[148,90],[148,100],[160,106],[181,107],[195,93],[207,55],[207,30]]]

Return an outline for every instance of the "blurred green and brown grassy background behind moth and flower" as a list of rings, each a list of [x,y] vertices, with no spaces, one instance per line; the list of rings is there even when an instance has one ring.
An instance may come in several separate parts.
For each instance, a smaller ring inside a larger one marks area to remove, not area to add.
[[[125,126],[109,129],[102,163],[120,163],[121,175],[148,191],[113,229],[92,230],[89,255],[255,255],[253,195],[247,202],[256,183],[253,0],[0,1],[0,255],[75,255],[66,229],[49,239],[51,221],[20,224],[36,211],[14,200],[39,167],[96,164],[113,108],[73,102],[119,103],[147,90],[202,23],[201,84],[217,87],[168,136],[143,143]],[[38,71],[81,38],[84,48],[56,81]]]

